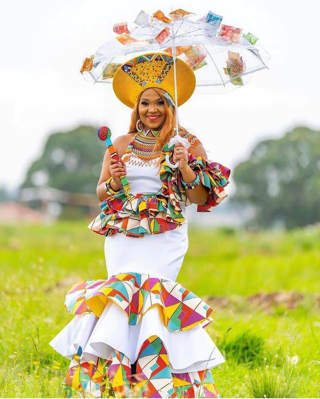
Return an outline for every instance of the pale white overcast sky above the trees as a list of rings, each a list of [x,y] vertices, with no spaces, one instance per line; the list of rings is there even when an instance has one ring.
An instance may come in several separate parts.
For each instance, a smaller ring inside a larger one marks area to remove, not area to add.
[[[111,85],[93,85],[79,73],[117,22],[141,9],[211,10],[227,25],[259,37],[271,54],[269,70],[226,94],[193,95],[179,107],[208,158],[232,168],[257,142],[280,137],[295,125],[320,128],[319,9],[314,1],[121,2],[16,1],[2,4],[0,79],[2,145],[0,185],[14,188],[40,156],[49,134],[79,124],[107,124],[113,136],[127,132],[131,110]]]

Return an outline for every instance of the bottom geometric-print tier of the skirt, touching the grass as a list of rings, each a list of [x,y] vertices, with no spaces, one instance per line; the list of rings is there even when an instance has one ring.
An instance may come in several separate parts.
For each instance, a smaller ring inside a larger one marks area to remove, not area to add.
[[[143,342],[134,375],[131,374],[130,359],[117,350],[113,351],[111,360],[98,358],[97,363],[81,363],[81,353],[79,348],[71,360],[63,397],[79,393],[81,397],[101,397],[102,394],[118,398],[221,397],[207,369],[172,373],[166,348],[157,336]]]

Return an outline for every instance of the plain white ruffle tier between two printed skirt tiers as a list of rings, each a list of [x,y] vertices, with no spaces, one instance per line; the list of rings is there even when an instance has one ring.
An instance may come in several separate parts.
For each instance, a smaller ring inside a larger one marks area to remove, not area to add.
[[[49,345],[69,359],[81,346],[81,361],[95,362],[98,357],[111,359],[116,349],[134,363],[143,342],[153,335],[164,343],[173,373],[212,369],[225,361],[200,325],[190,330],[169,331],[160,319],[158,307],[154,306],[136,326],[129,326],[126,313],[112,301],[105,306],[99,319],[92,313],[74,316]]]

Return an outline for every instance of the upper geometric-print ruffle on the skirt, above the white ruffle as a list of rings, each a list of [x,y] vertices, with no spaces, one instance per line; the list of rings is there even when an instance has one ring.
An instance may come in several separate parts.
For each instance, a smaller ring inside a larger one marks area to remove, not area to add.
[[[207,326],[214,312],[178,282],[133,272],[74,284],[67,292],[65,310],[71,314],[93,312],[100,317],[110,300],[126,312],[130,326],[138,324],[151,306],[158,306],[162,322],[170,331],[188,330],[197,324]]]

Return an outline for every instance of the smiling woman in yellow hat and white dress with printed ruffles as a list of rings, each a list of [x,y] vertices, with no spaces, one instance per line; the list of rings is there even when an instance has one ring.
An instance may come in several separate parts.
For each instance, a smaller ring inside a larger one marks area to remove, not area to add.
[[[68,397],[72,389],[100,397],[109,385],[116,397],[220,397],[210,369],[225,360],[204,330],[213,309],[176,277],[188,249],[186,206],[209,211],[221,202],[230,170],[208,161],[182,126],[180,141],[169,146],[172,65],[168,54],[146,54],[113,78],[117,97],[133,112],[128,134],[113,142],[119,161],[105,153],[97,185],[102,213],[89,225],[105,235],[109,278],[69,290],[65,307],[76,316],[50,342],[71,359]],[[180,59],[176,72],[179,106],[192,95],[195,76]],[[166,154],[179,160],[177,169]]]

